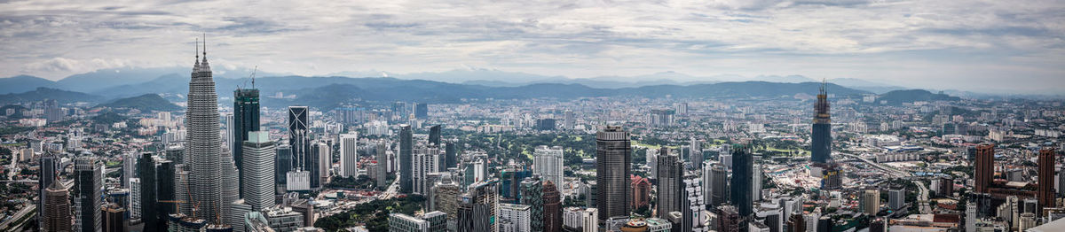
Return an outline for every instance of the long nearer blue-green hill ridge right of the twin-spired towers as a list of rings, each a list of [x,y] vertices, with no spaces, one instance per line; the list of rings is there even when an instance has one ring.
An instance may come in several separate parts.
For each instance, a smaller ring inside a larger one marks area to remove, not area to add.
[[[396,80],[387,78],[350,79],[350,84],[286,90],[295,99],[262,98],[264,106],[279,107],[304,104],[331,109],[354,100],[391,102],[417,101],[454,103],[461,99],[527,99],[581,97],[648,97],[661,98],[790,98],[797,94],[816,95],[821,83],[723,82],[698,85],[654,85],[629,88],[593,88],[580,84],[530,84],[515,87],[489,87],[484,85],[452,84],[423,80]],[[267,82],[267,81],[264,81]],[[272,81],[271,81],[272,82]],[[257,81],[257,84],[259,82]],[[273,84],[271,84],[273,85]],[[835,95],[863,95],[868,92],[830,84]],[[268,95],[264,95],[268,96]]]

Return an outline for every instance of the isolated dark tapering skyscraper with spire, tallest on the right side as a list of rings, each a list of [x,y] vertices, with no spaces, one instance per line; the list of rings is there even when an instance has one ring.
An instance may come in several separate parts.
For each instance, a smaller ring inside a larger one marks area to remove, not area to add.
[[[828,83],[821,84],[814,103],[814,132],[810,135],[810,156],[814,163],[828,163],[832,152],[832,115],[829,111]]]

